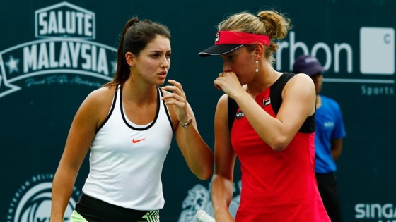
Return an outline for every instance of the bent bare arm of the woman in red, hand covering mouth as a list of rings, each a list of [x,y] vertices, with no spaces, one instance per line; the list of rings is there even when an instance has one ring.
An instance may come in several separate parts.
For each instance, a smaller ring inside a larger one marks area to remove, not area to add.
[[[235,99],[257,134],[276,151],[285,149],[305,119],[315,112],[315,86],[305,74],[294,76],[284,87],[283,102],[276,118],[250,97],[240,86],[235,73],[226,73],[214,83]]]

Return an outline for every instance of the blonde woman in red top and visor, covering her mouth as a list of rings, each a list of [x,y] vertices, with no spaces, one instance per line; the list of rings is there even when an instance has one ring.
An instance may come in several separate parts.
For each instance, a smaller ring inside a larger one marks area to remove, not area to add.
[[[236,156],[242,191],[235,221],[330,221],[314,173],[315,86],[308,75],[272,67],[274,40],[286,37],[289,24],[276,11],[237,13],[219,24],[215,45],[199,53],[223,59],[214,80],[225,92],[215,114],[216,222],[234,221],[228,206]]]

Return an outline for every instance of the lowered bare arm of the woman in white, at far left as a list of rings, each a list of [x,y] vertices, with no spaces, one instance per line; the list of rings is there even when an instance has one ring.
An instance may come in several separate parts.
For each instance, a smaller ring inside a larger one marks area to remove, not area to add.
[[[104,89],[108,90],[108,89]],[[91,145],[99,124],[100,99],[103,94],[92,92],[78,109],[69,130],[62,158],[52,183],[51,222],[64,221],[78,171]]]

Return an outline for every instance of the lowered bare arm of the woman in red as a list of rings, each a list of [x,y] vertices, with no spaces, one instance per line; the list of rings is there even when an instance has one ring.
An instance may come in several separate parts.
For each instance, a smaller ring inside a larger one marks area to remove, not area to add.
[[[211,180],[211,202],[216,221],[234,221],[228,211],[233,198],[233,170],[236,155],[231,147],[228,130],[227,95],[217,104],[214,118],[214,175]]]

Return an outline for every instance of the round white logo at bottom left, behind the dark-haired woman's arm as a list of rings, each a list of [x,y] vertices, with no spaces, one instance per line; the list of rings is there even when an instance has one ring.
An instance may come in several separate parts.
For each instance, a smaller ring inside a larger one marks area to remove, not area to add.
[[[50,221],[53,178],[53,174],[39,174],[25,181],[11,199],[6,222]],[[74,187],[66,207],[64,221],[70,220],[69,215],[74,210],[78,195],[79,192],[76,192]]]

